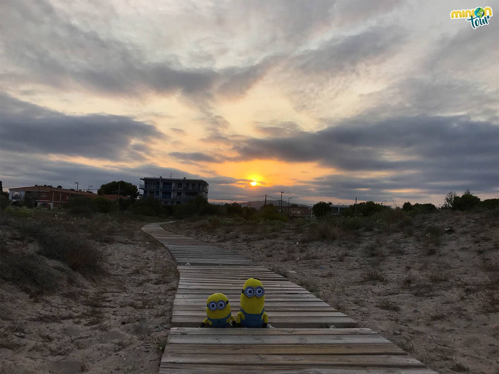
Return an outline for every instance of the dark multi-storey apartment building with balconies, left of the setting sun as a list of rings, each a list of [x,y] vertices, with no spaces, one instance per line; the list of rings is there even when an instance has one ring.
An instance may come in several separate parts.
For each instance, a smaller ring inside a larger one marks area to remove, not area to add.
[[[202,179],[141,178],[143,196],[159,198],[162,204],[175,205],[196,196],[208,198],[208,183]]]

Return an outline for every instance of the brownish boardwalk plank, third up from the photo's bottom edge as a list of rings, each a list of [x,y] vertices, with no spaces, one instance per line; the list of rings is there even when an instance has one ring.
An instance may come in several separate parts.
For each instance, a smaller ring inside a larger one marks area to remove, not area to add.
[[[209,329],[207,329],[209,330]],[[215,330],[215,329],[211,329]],[[323,329],[327,330],[327,329]],[[335,330],[335,329],[332,329]],[[394,344],[275,344],[216,345],[169,344],[165,352],[172,355],[407,355]]]

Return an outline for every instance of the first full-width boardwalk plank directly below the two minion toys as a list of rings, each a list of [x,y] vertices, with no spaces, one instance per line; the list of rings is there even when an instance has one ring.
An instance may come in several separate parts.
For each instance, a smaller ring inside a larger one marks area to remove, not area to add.
[[[200,329],[188,327],[172,327],[170,335],[379,335],[366,328],[352,329]]]

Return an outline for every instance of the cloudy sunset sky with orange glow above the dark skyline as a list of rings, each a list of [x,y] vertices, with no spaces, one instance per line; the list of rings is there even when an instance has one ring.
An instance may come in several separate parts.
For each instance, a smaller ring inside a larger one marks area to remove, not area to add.
[[[1,0],[0,178],[499,197],[498,24],[497,0]]]

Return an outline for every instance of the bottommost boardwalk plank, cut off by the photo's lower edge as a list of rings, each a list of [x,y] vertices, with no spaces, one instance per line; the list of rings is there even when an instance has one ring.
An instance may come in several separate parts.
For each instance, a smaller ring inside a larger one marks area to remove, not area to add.
[[[352,368],[352,367],[299,367],[294,365],[240,365],[237,371],[232,365],[169,364],[161,362],[160,374],[437,374],[430,369],[419,368]]]

